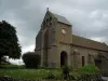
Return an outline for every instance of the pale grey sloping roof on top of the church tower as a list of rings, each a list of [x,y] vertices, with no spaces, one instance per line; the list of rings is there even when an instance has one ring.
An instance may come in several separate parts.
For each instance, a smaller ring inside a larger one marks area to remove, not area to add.
[[[50,13],[52,14],[53,17],[56,17],[58,22],[67,24],[67,25],[71,25],[66,17],[60,16],[60,15],[55,14],[55,13],[52,13],[52,12],[50,12]]]

